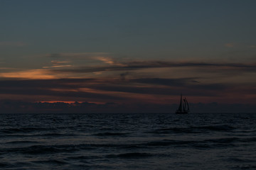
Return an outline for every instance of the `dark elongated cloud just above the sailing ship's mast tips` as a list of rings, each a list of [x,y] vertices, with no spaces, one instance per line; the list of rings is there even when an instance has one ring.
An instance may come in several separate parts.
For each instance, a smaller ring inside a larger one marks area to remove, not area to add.
[[[142,86],[138,86],[142,84]],[[146,86],[145,86],[146,85]],[[184,79],[127,79],[105,84],[88,85],[102,91],[119,91],[134,94],[179,95],[181,91],[189,96],[218,96],[218,91],[230,88],[226,84],[200,84],[193,78]]]

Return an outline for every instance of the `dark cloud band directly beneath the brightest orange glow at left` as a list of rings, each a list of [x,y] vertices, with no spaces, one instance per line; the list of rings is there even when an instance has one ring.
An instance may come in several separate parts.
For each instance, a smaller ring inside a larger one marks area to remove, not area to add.
[[[6,80],[0,81],[0,94],[18,94],[26,96],[65,96],[72,98],[102,98],[122,100],[107,94],[96,94],[79,90],[95,79],[43,79],[43,80]],[[55,91],[54,89],[58,89]],[[71,91],[76,90],[76,91]]]

